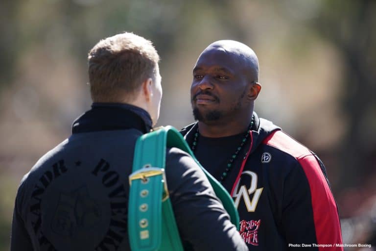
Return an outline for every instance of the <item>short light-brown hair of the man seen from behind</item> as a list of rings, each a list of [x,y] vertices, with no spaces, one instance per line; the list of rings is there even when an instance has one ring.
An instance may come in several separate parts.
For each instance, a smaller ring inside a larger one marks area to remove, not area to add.
[[[155,79],[159,55],[149,40],[125,32],[100,40],[88,60],[92,100],[123,102],[134,99],[145,79]]]

